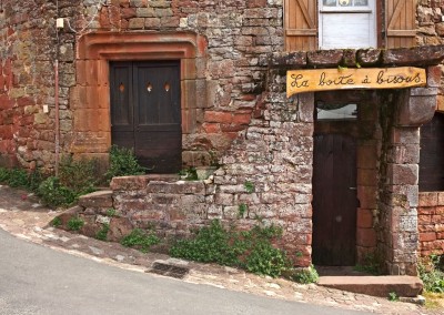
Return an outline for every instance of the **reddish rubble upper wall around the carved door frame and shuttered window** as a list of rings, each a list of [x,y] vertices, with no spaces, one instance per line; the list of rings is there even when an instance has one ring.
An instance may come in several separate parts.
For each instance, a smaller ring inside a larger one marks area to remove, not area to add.
[[[270,52],[284,50],[281,0],[60,0],[58,12],[54,1],[18,3],[3,0],[2,3],[2,164],[18,160],[22,166],[32,169],[37,164],[52,167],[54,163],[52,61],[57,47],[61,80],[61,151],[71,150],[73,118],[70,93],[77,81],[75,42],[87,32],[191,31],[208,39],[204,69],[208,96],[204,106],[193,118],[196,129],[183,138],[185,165],[211,163],[213,156],[210,152],[214,150],[220,156],[238,132],[246,128],[260,105],[263,90],[266,69],[260,65],[260,60]],[[443,42],[443,1],[418,1],[418,45]],[[59,43],[56,17],[65,18]],[[20,83],[13,83],[13,77],[20,78]],[[444,104],[441,94],[440,104]],[[49,113],[42,112],[44,104],[49,105]],[[26,140],[30,135],[33,141]]]

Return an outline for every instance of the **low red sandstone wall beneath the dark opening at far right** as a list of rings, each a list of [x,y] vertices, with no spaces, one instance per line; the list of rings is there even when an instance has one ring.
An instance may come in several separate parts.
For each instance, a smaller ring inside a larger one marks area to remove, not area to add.
[[[444,192],[422,192],[417,207],[420,253],[444,254]]]

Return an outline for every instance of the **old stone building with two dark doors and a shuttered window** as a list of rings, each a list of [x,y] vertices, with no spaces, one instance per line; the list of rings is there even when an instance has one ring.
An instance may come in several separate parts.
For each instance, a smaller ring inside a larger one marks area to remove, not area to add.
[[[415,274],[418,253],[444,251],[442,10],[0,0],[0,165],[54,171],[63,154],[105,164],[111,144],[153,173],[219,164],[205,182],[117,179],[111,205],[175,234],[261,217],[283,227],[296,265],[376,254],[387,273]],[[287,70],[401,67],[423,69],[426,83],[285,94]]]

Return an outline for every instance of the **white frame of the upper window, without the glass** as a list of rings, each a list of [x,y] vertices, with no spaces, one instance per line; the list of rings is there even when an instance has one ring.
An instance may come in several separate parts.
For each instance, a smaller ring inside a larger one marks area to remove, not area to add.
[[[352,0],[350,0],[352,1]],[[323,14],[341,14],[341,13],[367,13],[371,14],[370,17],[370,26],[369,26],[369,47],[354,47],[351,43],[344,41],[339,47],[334,47],[334,49],[341,48],[376,48],[377,45],[377,37],[376,37],[376,0],[369,0],[369,6],[360,6],[360,7],[324,7],[323,0],[317,0],[317,8],[319,8],[319,48],[320,49],[333,49],[333,48],[325,48],[323,43]]]

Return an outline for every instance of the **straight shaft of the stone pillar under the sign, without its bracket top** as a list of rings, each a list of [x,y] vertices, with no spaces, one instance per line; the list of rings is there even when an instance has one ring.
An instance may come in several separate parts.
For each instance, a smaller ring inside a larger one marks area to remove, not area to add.
[[[385,267],[392,275],[416,275],[420,129],[394,126],[391,133],[381,209]]]

